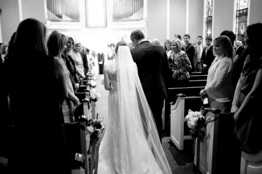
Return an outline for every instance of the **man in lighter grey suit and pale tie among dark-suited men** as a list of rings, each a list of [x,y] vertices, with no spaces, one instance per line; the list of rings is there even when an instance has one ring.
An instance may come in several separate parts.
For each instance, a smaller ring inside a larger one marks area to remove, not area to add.
[[[201,57],[203,55],[203,50],[206,48],[205,45],[202,45],[202,40],[203,37],[198,36],[196,38],[196,44],[194,45],[194,49],[195,49],[195,56],[193,59],[194,72],[201,72],[202,70]]]

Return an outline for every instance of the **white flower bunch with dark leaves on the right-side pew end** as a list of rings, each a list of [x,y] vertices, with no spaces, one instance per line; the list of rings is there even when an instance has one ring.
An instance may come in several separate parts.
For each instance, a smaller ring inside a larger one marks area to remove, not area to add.
[[[184,118],[184,121],[187,123],[187,126],[190,128],[190,136],[192,138],[197,138],[198,134],[200,135],[200,141],[204,142],[204,137],[206,135],[206,120],[203,116],[205,110],[201,111],[191,111],[188,110],[187,116]]]

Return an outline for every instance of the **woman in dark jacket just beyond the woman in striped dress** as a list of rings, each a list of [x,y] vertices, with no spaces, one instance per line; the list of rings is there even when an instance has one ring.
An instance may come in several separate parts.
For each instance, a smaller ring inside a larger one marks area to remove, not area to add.
[[[72,57],[69,55],[69,52],[72,51],[74,49],[74,40],[72,37],[68,37],[68,41],[66,44],[66,49],[64,50],[64,52],[61,55],[61,58],[64,60],[65,65],[68,69],[68,71],[70,72],[70,81],[73,85],[74,88],[74,92],[77,92],[80,82],[77,79],[76,76],[76,69],[75,69],[75,62],[72,59]]]

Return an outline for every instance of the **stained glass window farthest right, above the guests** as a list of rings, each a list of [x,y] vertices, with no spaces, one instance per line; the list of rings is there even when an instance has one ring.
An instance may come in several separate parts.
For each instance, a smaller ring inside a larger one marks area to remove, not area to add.
[[[241,34],[247,26],[248,0],[237,0],[236,39],[241,40]]]

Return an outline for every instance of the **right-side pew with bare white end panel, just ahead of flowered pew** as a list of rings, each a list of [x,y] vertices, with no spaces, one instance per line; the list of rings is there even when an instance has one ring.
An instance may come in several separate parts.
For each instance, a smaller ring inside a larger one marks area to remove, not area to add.
[[[184,118],[189,109],[192,111],[200,110],[201,97],[187,97],[184,94],[177,94],[170,105],[170,140],[178,150],[183,150],[184,140],[192,140],[190,129],[184,122]]]

